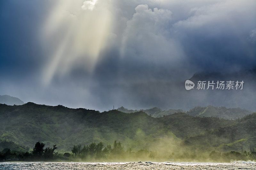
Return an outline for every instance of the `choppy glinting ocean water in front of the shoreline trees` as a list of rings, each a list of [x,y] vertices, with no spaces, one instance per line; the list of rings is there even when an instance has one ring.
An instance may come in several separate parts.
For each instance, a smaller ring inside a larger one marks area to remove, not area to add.
[[[255,169],[256,163],[192,163],[192,162],[1,162],[0,169]]]

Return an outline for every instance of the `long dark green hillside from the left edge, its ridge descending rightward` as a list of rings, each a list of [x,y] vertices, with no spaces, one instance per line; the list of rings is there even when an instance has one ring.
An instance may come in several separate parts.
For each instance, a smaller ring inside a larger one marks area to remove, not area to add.
[[[100,113],[83,108],[45,106],[27,103],[22,106],[0,105],[0,137],[33,147],[36,141],[47,146],[58,144],[70,150],[74,144],[121,141],[127,147],[149,147],[159,136],[179,140],[163,124],[144,112],[126,114],[117,110]],[[171,135],[170,135],[171,134]],[[159,142],[159,141],[158,141]]]

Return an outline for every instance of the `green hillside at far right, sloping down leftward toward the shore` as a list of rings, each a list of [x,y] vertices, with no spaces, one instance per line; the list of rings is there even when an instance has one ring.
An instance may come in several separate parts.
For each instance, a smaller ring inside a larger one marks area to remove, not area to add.
[[[235,123],[207,130],[199,135],[188,137],[184,144],[198,148],[216,147],[218,151],[250,150],[256,143],[256,113],[237,119]]]

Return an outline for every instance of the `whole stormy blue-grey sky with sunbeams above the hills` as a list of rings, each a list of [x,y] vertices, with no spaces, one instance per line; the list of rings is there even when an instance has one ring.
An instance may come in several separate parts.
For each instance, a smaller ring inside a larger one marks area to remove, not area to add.
[[[0,2],[0,95],[24,102],[254,109],[255,89],[239,92],[243,102],[206,91],[190,102],[184,82],[255,67],[255,0]]]

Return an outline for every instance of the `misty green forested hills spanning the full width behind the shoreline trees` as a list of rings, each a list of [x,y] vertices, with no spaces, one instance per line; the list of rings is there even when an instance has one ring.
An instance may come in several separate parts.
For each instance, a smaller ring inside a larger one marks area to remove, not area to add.
[[[154,118],[144,112],[102,112],[84,108],[45,106],[26,103],[20,106],[0,104],[0,150],[13,147],[28,150],[37,141],[46,146],[57,144],[59,152],[70,151],[75,144],[120,141],[133,150],[181,152],[180,147],[200,144],[205,151],[249,149],[255,143],[255,114],[241,120],[193,117],[185,113]],[[253,129],[254,128],[254,129]],[[239,133],[238,133],[239,132]],[[211,137],[214,137],[212,139]],[[221,139],[221,140],[220,140]],[[210,143],[206,141],[211,140]],[[243,143],[237,141],[243,140]],[[233,144],[235,143],[235,144]],[[11,148],[12,149],[12,148]]]

